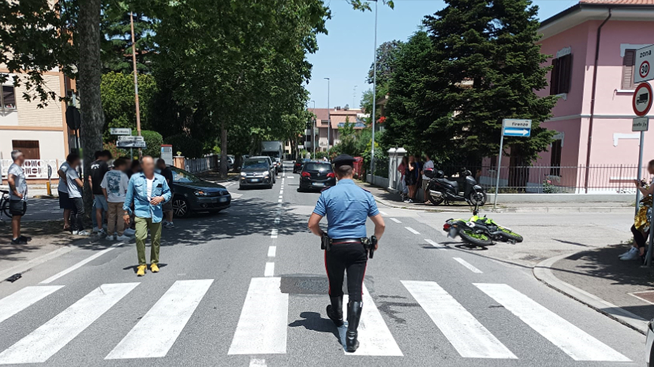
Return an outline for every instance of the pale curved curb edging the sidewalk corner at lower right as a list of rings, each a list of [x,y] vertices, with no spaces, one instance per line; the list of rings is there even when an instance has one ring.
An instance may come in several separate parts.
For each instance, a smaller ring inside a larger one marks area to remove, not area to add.
[[[551,268],[553,264],[561,259],[579,252],[583,251],[576,251],[574,253],[567,253],[564,255],[550,257],[549,259],[541,261],[532,269],[534,277],[545,283],[545,285],[559,291],[560,293],[563,293],[566,296],[569,296],[578,302],[585,304],[593,310],[604,313],[604,315],[607,315],[611,319],[614,319],[615,321],[630,327],[643,335],[647,334],[647,320],[623,308],[615,306],[615,304],[607,302],[598,296],[592,295],[583,289],[579,289],[570,283],[566,283],[554,275]]]

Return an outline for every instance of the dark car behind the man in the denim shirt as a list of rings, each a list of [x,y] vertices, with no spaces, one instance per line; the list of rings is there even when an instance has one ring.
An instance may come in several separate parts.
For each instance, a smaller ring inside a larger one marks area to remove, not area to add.
[[[181,168],[173,171],[173,215],[188,217],[192,212],[220,212],[232,204],[232,195],[218,183],[202,180]]]

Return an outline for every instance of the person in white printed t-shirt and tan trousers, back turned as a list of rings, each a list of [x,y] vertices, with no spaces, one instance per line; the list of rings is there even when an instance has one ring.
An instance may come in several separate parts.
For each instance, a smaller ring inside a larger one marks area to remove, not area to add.
[[[123,172],[127,168],[127,161],[118,158],[114,161],[114,167],[105,173],[100,183],[102,192],[107,201],[107,240],[129,241],[129,236],[124,235],[125,221],[121,218],[122,206],[125,202],[125,195],[129,179]],[[117,236],[114,237],[114,231]]]

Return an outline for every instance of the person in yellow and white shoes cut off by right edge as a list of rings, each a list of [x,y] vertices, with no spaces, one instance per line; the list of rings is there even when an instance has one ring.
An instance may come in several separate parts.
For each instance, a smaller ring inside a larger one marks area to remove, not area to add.
[[[650,175],[654,174],[654,159],[647,164],[647,172]],[[649,218],[651,217],[650,211],[652,208],[654,185],[652,181],[649,182],[649,185],[646,185],[644,180],[634,180],[634,183],[636,184],[636,189],[643,195],[643,199],[640,199],[640,209],[638,209],[638,214],[634,218],[634,225],[631,226],[631,232],[634,234],[634,247],[631,247],[629,251],[619,256],[620,260],[623,261],[636,260],[638,257],[644,257],[645,242],[647,242],[647,236],[649,235]]]

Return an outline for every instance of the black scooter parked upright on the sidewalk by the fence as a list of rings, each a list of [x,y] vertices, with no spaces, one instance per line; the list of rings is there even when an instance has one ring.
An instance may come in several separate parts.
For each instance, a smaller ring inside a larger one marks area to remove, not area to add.
[[[486,191],[477,185],[477,180],[472,176],[472,172],[466,168],[461,170],[461,176],[465,177],[462,192],[459,191],[458,182],[447,180],[445,173],[441,170],[425,170],[424,175],[430,178],[425,194],[434,205],[442,202],[450,204],[454,201],[465,201],[476,206],[483,206],[486,203]]]

